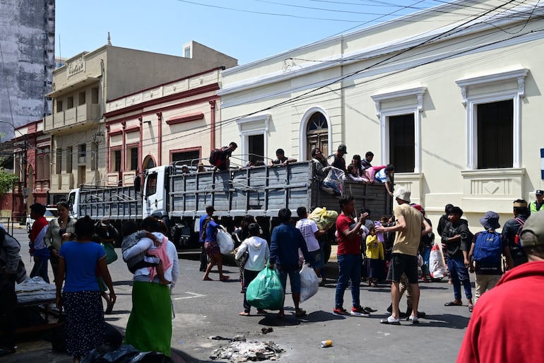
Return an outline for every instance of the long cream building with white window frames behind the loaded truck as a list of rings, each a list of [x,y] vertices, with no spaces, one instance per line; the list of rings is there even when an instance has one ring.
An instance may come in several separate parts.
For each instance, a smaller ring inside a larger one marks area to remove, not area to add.
[[[221,141],[246,159],[345,143],[349,164],[372,150],[434,223],[446,203],[474,230],[487,210],[504,222],[514,199],[544,189],[543,13],[538,1],[452,1],[227,69]]]

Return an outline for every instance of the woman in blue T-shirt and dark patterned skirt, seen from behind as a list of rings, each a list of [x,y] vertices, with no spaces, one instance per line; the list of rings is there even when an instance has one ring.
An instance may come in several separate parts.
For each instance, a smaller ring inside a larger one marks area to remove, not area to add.
[[[97,270],[110,290],[112,302],[116,297],[107,270],[106,253],[100,244],[91,241],[93,220],[85,216],[76,222],[75,228],[77,241],[65,242],[59,251],[56,283],[57,307],[64,307],[66,314],[66,351],[73,356],[73,362],[78,363],[81,357],[104,343],[104,310]]]

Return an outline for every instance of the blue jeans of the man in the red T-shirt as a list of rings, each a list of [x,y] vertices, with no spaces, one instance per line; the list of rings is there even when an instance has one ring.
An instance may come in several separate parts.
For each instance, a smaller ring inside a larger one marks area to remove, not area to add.
[[[345,287],[351,280],[351,299],[353,307],[360,307],[359,284],[361,282],[361,255],[338,255],[338,283],[336,283],[336,297],[334,306],[343,307]]]

